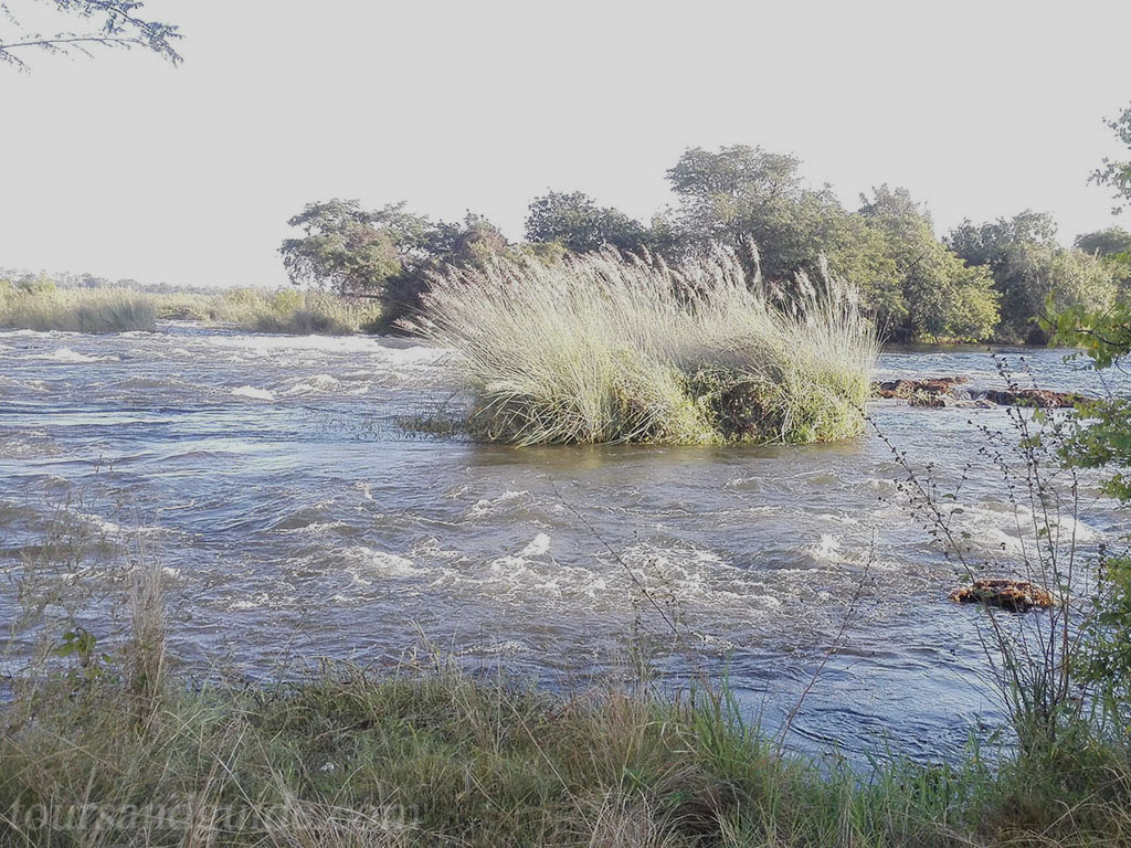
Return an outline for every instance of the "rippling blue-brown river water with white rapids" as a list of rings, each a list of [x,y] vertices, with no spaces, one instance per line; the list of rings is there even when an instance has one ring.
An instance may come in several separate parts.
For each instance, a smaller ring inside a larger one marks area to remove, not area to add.
[[[267,675],[290,656],[381,666],[423,635],[472,667],[561,682],[615,667],[648,638],[672,680],[725,669],[772,727],[858,592],[794,744],[946,756],[994,715],[983,613],[947,600],[956,566],[903,504],[904,469],[874,432],[759,448],[414,436],[398,422],[465,400],[444,352],[161,329],[0,332],[0,566],[18,572],[61,517],[107,561],[144,538],[189,669]],[[1043,388],[1103,388],[1057,352],[1004,356],[1024,356]],[[1002,383],[984,349],[888,351],[879,364],[881,378],[950,374]],[[977,427],[1004,427],[1005,410],[870,412],[913,464],[951,481],[975,464],[962,533],[1016,561],[1017,510],[978,462]],[[1078,539],[1115,538],[1112,504],[1082,495]],[[0,617],[16,612],[6,589]],[[688,644],[699,659],[683,658]]]

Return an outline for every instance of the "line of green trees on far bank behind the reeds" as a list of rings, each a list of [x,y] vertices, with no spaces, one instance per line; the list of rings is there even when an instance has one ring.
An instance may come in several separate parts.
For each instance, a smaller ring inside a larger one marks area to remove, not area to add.
[[[711,243],[740,252],[752,243],[770,284],[818,276],[824,266],[860,291],[886,337],[899,341],[1042,343],[1047,329],[1036,319],[1050,306],[1102,311],[1131,292],[1131,233],[1117,227],[1064,248],[1052,216],[1027,210],[965,220],[940,239],[906,189],[873,188],[849,209],[830,187],[806,184],[800,168],[797,158],[760,147],[689,149],[667,172],[676,204],[650,222],[582,192],[552,191],[530,204],[519,243],[478,215],[432,222],[405,204],[371,210],[334,199],[292,218],[303,235],[280,252],[294,283],[380,297],[388,322],[411,311],[446,268],[499,252],[555,261],[608,246],[679,260]],[[1096,179],[1117,188],[1122,173],[1105,163]]]

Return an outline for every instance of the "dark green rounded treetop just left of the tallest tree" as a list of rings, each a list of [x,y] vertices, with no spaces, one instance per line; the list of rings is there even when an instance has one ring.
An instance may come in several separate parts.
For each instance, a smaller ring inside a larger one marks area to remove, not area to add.
[[[622,211],[599,207],[588,194],[551,191],[530,204],[526,237],[558,242],[573,253],[589,253],[612,245],[636,251],[649,246],[648,228]]]

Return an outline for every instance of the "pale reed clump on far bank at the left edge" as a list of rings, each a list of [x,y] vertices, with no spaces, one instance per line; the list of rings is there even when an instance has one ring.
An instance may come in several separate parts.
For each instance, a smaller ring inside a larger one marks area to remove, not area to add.
[[[0,282],[0,327],[68,332],[154,331],[153,296],[126,287],[57,288]]]

